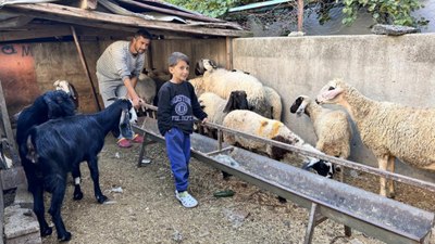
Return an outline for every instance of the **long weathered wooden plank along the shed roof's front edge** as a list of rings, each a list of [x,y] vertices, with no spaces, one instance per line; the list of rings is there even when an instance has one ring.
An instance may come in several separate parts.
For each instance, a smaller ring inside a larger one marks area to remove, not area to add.
[[[149,28],[157,30],[169,30],[172,33],[197,34],[209,36],[231,36],[243,37],[249,36],[246,30],[234,29],[212,29],[204,27],[192,27],[182,24],[164,23],[157,21],[147,21],[135,16],[120,16],[115,14],[102,13],[98,11],[86,11],[78,8],[60,5],[54,3],[34,3],[34,4],[13,4],[4,7],[7,10],[20,11],[25,15],[39,18],[58,21],[62,23],[79,24],[86,26],[124,26],[135,28]]]

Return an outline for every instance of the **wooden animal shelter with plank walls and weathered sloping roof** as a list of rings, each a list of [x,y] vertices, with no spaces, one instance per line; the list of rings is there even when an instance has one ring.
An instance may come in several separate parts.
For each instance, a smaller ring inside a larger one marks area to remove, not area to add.
[[[96,62],[115,40],[147,28],[154,40],[148,70],[166,70],[170,53],[231,65],[231,39],[249,36],[238,24],[208,17],[159,0],[5,0],[0,9],[0,80],[9,114],[53,88],[72,82],[79,111],[98,111]]]

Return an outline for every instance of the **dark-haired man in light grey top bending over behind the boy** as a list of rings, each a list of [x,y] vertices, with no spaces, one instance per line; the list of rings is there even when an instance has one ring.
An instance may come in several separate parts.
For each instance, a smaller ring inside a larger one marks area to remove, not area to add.
[[[130,41],[115,41],[110,44],[97,61],[97,78],[104,107],[113,101],[111,98],[129,98],[133,105],[138,108],[141,99],[137,95],[135,87],[137,78],[144,68],[145,52],[151,43],[152,36],[148,30],[138,30]],[[119,138],[120,147],[130,147],[132,142],[141,143],[144,138],[135,134],[132,141]]]

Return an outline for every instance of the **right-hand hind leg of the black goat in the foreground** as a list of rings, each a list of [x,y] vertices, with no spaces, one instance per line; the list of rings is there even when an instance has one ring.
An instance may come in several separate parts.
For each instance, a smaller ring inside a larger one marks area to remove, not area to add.
[[[49,213],[54,222],[55,230],[58,231],[58,239],[60,241],[70,241],[71,233],[66,231],[61,216],[62,202],[66,189],[66,176],[64,178],[57,177],[52,182],[54,183],[54,187],[52,189]]]

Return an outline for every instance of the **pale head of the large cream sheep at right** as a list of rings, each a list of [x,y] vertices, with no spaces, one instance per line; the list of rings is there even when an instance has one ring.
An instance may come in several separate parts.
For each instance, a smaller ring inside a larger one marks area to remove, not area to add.
[[[346,84],[341,79],[334,79],[327,82],[319,92],[315,102],[323,103],[340,103]]]

